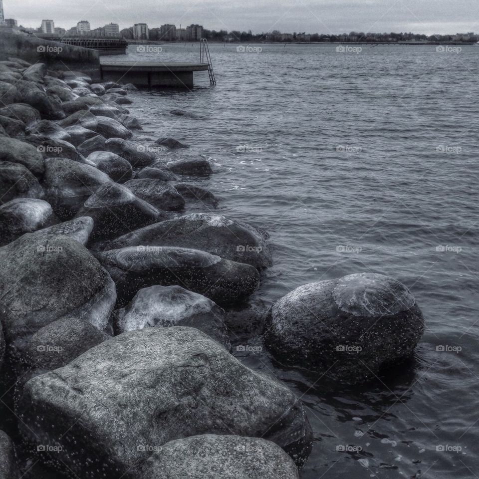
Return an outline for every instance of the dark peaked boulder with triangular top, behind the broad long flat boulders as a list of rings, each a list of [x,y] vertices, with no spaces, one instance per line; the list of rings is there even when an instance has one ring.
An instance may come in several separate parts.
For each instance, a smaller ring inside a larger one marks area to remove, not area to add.
[[[108,182],[85,201],[77,216],[93,218],[90,240],[105,240],[150,225],[160,213],[128,188]]]

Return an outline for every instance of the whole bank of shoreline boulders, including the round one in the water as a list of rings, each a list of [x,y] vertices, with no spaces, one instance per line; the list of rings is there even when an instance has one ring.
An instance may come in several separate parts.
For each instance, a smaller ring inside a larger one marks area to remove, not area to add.
[[[421,311],[362,273],[248,304],[267,233],[214,211],[207,159],[142,136],[134,89],[0,62],[0,478],[298,478],[303,405],[233,336],[363,382],[412,354]]]

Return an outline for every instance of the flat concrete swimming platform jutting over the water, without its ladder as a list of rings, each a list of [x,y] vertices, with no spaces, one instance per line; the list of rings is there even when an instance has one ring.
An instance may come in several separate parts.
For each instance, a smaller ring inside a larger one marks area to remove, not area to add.
[[[112,61],[100,58],[103,81],[136,86],[193,88],[193,73],[208,71],[208,63]]]

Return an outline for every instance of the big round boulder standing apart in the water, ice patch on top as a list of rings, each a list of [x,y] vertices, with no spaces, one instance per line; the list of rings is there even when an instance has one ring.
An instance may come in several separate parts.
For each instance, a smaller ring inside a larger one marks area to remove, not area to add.
[[[382,274],[296,288],[271,308],[265,344],[288,366],[358,383],[410,356],[424,330],[411,292]]]

